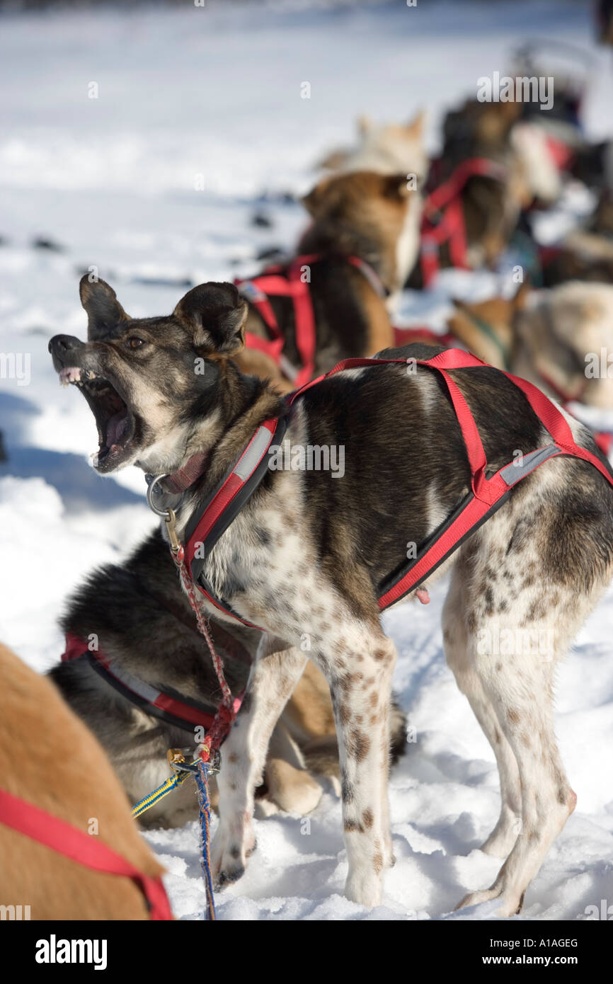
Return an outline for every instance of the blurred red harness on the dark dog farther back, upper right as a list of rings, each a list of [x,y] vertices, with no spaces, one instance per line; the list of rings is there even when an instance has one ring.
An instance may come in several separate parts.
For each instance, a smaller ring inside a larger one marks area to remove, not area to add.
[[[476,174],[500,181],[506,170],[502,164],[487,157],[469,157],[462,160],[453,174],[435,188],[424,202],[420,263],[426,287],[430,286],[439,273],[443,243],[448,243],[452,266],[468,270],[461,193],[468,179]]]

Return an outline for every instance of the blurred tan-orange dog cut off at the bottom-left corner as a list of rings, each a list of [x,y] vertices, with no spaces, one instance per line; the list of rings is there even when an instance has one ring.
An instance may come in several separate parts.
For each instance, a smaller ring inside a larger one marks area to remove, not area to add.
[[[0,646],[0,704],[2,790],[82,831],[86,840],[88,835],[99,840],[157,879],[162,869],[97,741],[49,680],[6,646]],[[33,750],[32,735],[38,736]],[[130,878],[94,871],[24,829],[0,821],[3,904],[28,903],[31,919],[149,918],[144,894]],[[39,829],[41,835],[45,831],[47,823]]]

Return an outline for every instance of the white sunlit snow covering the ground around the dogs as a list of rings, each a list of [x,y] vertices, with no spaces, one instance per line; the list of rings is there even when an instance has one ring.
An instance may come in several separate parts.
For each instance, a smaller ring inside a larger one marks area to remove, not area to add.
[[[60,390],[47,353],[57,332],[85,333],[81,272],[96,266],[135,316],[171,310],[185,288],[167,281],[252,272],[261,250],[291,246],[305,215],[285,193],[309,187],[313,161],[350,140],[357,113],[403,119],[426,105],[435,150],[443,109],[504,70],[528,26],[590,53],[585,126],[594,138],[613,128],[610,50],[592,43],[589,5],[297,6],[3,18],[0,351],[29,358],[30,378],[0,379],[0,638],[36,669],[62,651],[56,617],[84,572],[153,523],[140,473],[93,474],[91,415]],[[271,226],[254,225],[256,213]],[[34,248],[40,238],[57,248]],[[452,273],[431,295],[407,294],[402,317],[441,325],[452,290],[491,288],[492,275]],[[384,905],[368,912],[342,897],[340,807],[328,789],[308,823],[257,822],[258,850],[218,895],[220,918],[494,917],[495,902],[450,915],[497,871],[477,847],[499,797],[493,755],[445,665],[444,594],[437,585],[428,607],[386,616],[416,741],[392,777],[398,863]],[[587,905],[613,902],[612,630],[609,593],[561,668],[557,726],[579,806],[526,895],[526,918],[582,919]],[[195,825],[149,840],[177,916],[202,918]]]

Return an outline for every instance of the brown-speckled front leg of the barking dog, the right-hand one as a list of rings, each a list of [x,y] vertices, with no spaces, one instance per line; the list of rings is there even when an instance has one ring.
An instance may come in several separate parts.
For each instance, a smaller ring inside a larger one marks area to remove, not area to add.
[[[348,872],[345,894],[378,905],[383,872],[392,864],[388,805],[389,713],[396,647],[360,627],[359,642],[339,638],[321,666],[327,674],[337,722],[342,821]]]

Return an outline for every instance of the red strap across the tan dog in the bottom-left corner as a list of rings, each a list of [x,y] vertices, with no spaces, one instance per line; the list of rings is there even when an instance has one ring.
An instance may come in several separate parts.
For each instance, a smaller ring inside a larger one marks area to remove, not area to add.
[[[0,823],[86,868],[91,868],[92,871],[132,879],[147,899],[150,918],[155,921],[172,919],[168,898],[159,876],[152,878],[145,875],[97,837],[73,827],[5,789],[0,789]]]

